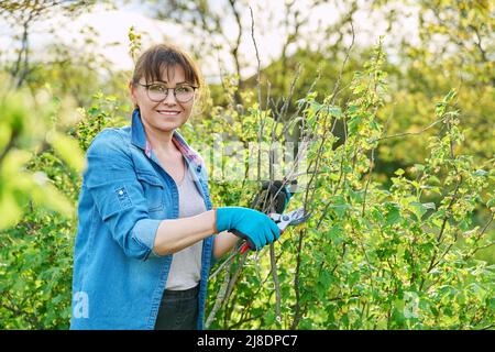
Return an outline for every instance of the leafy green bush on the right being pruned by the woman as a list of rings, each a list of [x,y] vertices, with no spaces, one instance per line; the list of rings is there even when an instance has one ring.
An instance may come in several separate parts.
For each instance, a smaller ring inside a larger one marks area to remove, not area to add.
[[[376,120],[386,92],[383,61],[378,46],[364,70],[355,74],[353,100],[345,107],[330,106],[329,97],[317,102],[316,94],[301,101],[307,129],[317,141],[308,162],[321,158],[329,164],[315,182],[318,196],[306,202],[312,217],[300,229],[286,231],[276,248],[282,319],[276,319],[265,251],[257,258],[248,257],[241,279],[210,328],[493,327],[495,267],[474,257],[493,245],[486,233],[494,213],[493,160],[483,167],[454,152],[463,141],[462,113],[451,90],[436,106],[442,128],[430,139],[424,164],[407,173],[397,169],[389,189],[371,180],[373,161],[367,154],[377,147],[383,131]],[[333,150],[334,139],[326,138],[329,112],[346,125],[344,144]],[[484,190],[490,190],[487,197]],[[248,205],[239,184],[226,187],[224,196],[221,191],[216,188],[215,194],[224,204]],[[295,196],[294,209],[305,205],[304,196]],[[472,226],[475,210],[485,213],[486,227]],[[212,292],[221,292],[224,275],[212,284]]]

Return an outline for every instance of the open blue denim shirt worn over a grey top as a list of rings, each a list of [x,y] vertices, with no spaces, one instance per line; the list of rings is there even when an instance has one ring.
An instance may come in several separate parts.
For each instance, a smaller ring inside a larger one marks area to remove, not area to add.
[[[202,158],[175,131],[207,210]],[[78,205],[70,329],[154,329],[173,254],[153,251],[164,219],[177,219],[178,190],[148,148],[139,110],[131,127],[102,130],[87,151]],[[204,329],[215,234],[206,238],[197,328]]]

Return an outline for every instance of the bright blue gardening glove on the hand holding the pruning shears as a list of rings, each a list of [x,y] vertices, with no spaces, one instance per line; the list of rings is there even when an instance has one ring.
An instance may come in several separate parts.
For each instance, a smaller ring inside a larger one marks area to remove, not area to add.
[[[244,239],[251,250],[278,240],[280,230],[275,222],[261,211],[242,207],[215,208],[217,231],[230,231]]]

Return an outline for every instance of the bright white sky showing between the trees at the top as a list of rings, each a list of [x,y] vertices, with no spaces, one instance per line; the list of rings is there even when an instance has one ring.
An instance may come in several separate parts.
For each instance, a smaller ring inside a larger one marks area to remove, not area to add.
[[[365,0],[363,3],[365,3]],[[210,0],[213,8],[221,6],[223,1]],[[307,8],[307,0],[298,0],[297,7],[301,12]],[[250,1],[255,16],[255,38],[261,53],[262,66],[268,65],[274,57],[278,57],[284,37],[283,29],[278,23],[282,21],[284,0],[274,1]],[[323,6],[311,18],[310,26],[316,28],[319,20],[324,23],[333,23],[339,18],[342,9],[336,8],[334,4]],[[373,13],[370,18],[369,13],[358,12],[354,15],[354,30],[356,33],[356,45],[369,45],[375,43],[381,34],[384,34],[386,24],[380,22],[381,13]],[[172,38],[176,44],[194,43],[194,38],[184,35],[180,28],[165,21],[157,21],[146,16],[142,7],[139,4],[127,4],[118,10],[107,10],[98,6],[91,13],[84,14],[73,21],[61,15],[55,15],[44,22],[36,23],[31,36],[31,47],[35,54],[42,54],[43,47],[54,37],[47,35],[47,29],[56,23],[59,28],[57,41],[69,43],[80,43],[81,35],[79,31],[87,26],[92,26],[99,33],[98,51],[109,58],[116,66],[121,69],[132,69],[133,62],[129,55],[128,33],[131,26],[134,26],[139,33],[147,33],[148,37],[143,38],[143,46],[151,43],[163,41],[164,36]],[[381,23],[381,24],[376,24]],[[226,22],[227,33],[230,37],[237,36],[237,26],[232,21]],[[248,29],[246,36],[243,38],[243,45],[240,51],[248,63],[252,63],[243,75],[252,75],[255,73],[256,59],[253,42],[251,40],[251,18],[249,13],[243,13],[243,26]],[[405,19],[402,28],[398,29],[403,35],[414,37],[417,35],[417,25],[414,19]],[[0,23],[0,52],[6,47],[12,48],[15,42],[12,42],[12,30],[8,29],[4,23]],[[180,38],[180,42],[178,42]],[[385,38],[385,43],[393,38]],[[398,40],[398,36],[395,36]],[[350,37],[345,40],[350,42]],[[118,43],[118,45],[109,45],[109,43]],[[197,43],[195,43],[197,45]],[[84,47],[80,43],[75,44],[76,47]],[[224,65],[228,69],[233,69],[232,63],[228,61],[228,54],[221,54]],[[208,80],[217,80],[219,68],[215,61],[202,62],[201,69]]]

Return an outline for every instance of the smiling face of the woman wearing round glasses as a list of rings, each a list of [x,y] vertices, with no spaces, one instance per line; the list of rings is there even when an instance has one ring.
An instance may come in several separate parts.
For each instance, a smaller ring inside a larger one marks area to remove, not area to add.
[[[146,82],[144,77],[141,77],[139,84],[130,85],[130,89],[132,101],[140,108],[141,120],[145,128],[169,132],[180,128],[189,119],[195,102],[195,96],[187,102],[179,102],[175,98],[173,90],[168,89],[164,100],[160,102],[151,100],[147,88],[141,85],[160,84],[163,85],[164,88],[176,88],[184,85],[193,86],[191,82],[186,81],[184,69],[179,65],[164,69],[160,81],[150,82]],[[166,91],[166,89],[164,91]],[[153,97],[153,94],[150,96]]]

